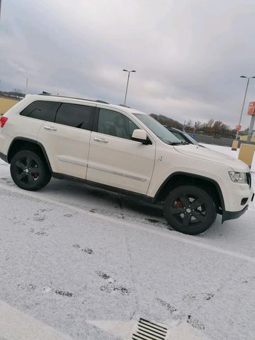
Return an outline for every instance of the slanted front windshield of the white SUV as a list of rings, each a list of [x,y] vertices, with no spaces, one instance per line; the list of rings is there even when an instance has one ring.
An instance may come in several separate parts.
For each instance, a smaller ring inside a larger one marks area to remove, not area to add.
[[[151,130],[154,135],[159,137],[162,142],[169,144],[169,145],[178,145],[182,144],[182,142],[175,137],[169,130],[167,130],[164,125],[160,124],[152,118],[150,115],[144,115],[142,113],[133,113],[135,117],[141,120],[149,130]]]

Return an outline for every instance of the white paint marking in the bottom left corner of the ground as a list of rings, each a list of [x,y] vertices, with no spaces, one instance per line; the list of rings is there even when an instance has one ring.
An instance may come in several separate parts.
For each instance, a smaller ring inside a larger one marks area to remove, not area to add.
[[[0,300],[0,339],[4,340],[72,340],[61,331],[11,307]]]

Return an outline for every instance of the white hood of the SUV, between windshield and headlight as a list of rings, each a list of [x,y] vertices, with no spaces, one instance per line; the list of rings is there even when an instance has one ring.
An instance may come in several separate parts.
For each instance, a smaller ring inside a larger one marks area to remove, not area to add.
[[[200,159],[205,159],[210,162],[220,163],[225,166],[229,166],[234,171],[239,172],[249,172],[249,166],[239,159],[228,156],[227,154],[222,154],[221,152],[216,152],[206,147],[200,147],[199,145],[176,145],[174,146],[176,151],[181,154],[186,154],[190,157],[196,157]]]

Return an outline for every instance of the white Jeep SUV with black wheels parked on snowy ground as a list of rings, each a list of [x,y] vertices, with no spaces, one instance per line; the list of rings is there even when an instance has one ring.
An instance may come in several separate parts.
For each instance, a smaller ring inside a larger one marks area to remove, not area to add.
[[[164,203],[166,220],[205,232],[217,213],[237,218],[254,198],[249,166],[180,142],[149,115],[124,106],[28,95],[0,120],[0,157],[17,186],[38,190],[51,177]]]

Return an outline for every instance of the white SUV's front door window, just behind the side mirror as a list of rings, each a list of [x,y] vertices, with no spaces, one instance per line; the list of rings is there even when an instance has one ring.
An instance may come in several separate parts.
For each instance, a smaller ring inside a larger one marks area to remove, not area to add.
[[[101,108],[98,117],[98,132],[131,140],[132,132],[137,128],[128,117],[116,111]]]

